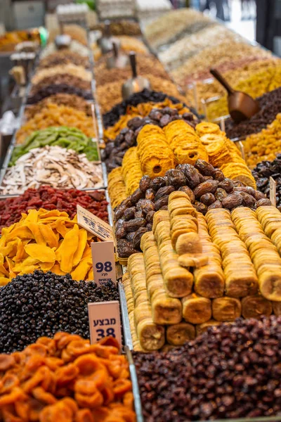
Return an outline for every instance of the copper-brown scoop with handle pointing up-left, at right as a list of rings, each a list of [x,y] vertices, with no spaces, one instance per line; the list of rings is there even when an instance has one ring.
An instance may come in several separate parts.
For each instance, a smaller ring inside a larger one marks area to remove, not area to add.
[[[242,120],[247,120],[258,113],[258,101],[254,100],[254,98],[251,98],[251,96],[245,94],[244,92],[235,91],[235,89],[230,87],[226,79],[224,79],[218,70],[211,69],[210,73],[228,92],[229,114],[236,123],[242,122]]]

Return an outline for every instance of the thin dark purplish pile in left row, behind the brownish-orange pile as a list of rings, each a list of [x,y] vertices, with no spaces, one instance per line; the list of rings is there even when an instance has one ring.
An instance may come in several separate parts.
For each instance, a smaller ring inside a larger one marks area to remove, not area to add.
[[[36,92],[36,94],[30,95],[27,98],[27,104],[36,104],[39,101],[43,100],[43,98],[46,98],[54,94],[58,94],[60,92],[64,94],[75,94],[75,95],[81,96],[82,98],[85,98],[85,100],[91,100],[93,98],[91,91],[84,91],[83,89],[80,89],[74,86],[71,87],[70,85],[67,85],[67,84],[51,84],[51,85],[42,87]]]

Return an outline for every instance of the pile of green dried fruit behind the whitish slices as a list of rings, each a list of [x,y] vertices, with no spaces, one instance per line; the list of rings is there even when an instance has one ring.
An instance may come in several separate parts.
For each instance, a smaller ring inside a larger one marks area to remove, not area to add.
[[[41,146],[61,146],[86,154],[89,161],[98,161],[98,150],[96,143],[93,143],[81,130],[74,127],[48,127],[37,132],[33,132],[25,139],[25,142],[15,146],[9,165],[14,165],[16,160],[27,154],[32,148]]]

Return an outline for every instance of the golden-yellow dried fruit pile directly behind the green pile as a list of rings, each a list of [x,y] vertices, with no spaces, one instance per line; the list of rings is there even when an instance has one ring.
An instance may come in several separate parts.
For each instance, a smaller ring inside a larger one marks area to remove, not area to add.
[[[84,111],[75,110],[72,107],[46,104],[46,107],[37,113],[32,119],[27,120],[16,134],[17,143],[23,143],[27,136],[39,129],[47,127],[68,126],[80,129],[89,138],[96,136],[93,130],[93,119]]]

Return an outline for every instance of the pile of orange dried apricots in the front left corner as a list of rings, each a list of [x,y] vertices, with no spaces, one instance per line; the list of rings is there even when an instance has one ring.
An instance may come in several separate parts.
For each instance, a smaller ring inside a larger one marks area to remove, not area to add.
[[[79,335],[41,337],[1,354],[0,417],[34,421],[135,422],[129,363],[115,339],[95,345]],[[6,404],[8,402],[8,405]]]

